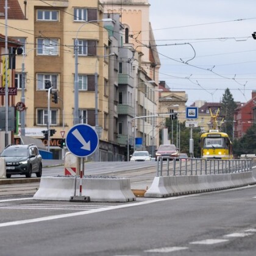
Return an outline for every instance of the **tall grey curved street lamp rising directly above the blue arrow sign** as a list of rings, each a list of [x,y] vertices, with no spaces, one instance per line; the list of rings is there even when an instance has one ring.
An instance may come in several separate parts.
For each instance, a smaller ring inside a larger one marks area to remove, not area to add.
[[[102,20],[92,20],[92,21],[86,21],[85,23],[83,23],[79,29],[77,30],[76,33],[76,39],[74,41],[74,53],[75,53],[75,74],[74,74],[74,125],[79,123],[79,108],[78,108],[78,92],[79,92],[79,88],[78,88],[78,33],[80,31],[80,29],[82,29],[82,27],[85,24],[91,23],[91,22],[98,22],[98,21],[113,21],[110,18],[105,18]]]

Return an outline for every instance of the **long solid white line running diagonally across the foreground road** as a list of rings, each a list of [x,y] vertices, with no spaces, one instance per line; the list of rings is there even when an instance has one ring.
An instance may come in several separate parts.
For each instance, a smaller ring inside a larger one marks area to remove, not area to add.
[[[166,198],[152,199],[151,201],[143,201],[143,202],[134,202],[131,204],[115,205],[115,206],[108,207],[108,208],[99,208],[99,209],[93,209],[93,210],[88,210],[88,211],[82,211],[82,212],[78,212],[78,213],[67,213],[67,214],[62,214],[62,215],[46,216],[46,217],[35,218],[35,219],[24,219],[23,221],[10,221],[10,222],[0,223],[0,227],[16,226],[16,225],[36,223],[36,222],[41,222],[41,221],[51,221],[54,219],[82,216],[82,215],[88,215],[91,213],[106,212],[109,210],[116,210],[116,209],[127,208],[127,207],[136,207],[136,206],[140,206],[140,205],[144,205],[144,204],[152,204],[154,202],[171,201],[171,200],[182,199],[185,197],[193,197],[193,196],[196,196],[196,194],[179,196],[179,197],[166,197]]]

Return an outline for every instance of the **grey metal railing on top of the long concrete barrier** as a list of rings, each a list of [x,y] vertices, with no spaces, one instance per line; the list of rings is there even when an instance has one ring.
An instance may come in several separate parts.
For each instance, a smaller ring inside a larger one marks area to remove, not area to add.
[[[247,171],[252,171],[252,159],[157,157],[156,176],[193,176]]]

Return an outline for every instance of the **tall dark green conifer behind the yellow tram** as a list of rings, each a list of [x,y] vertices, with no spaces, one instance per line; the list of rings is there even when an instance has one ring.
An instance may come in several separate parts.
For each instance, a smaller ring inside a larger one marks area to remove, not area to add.
[[[233,136],[233,116],[235,112],[235,108],[237,107],[232,93],[230,93],[229,88],[227,88],[222,96],[221,101],[221,116],[224,116],[224,130],[230,138]]]

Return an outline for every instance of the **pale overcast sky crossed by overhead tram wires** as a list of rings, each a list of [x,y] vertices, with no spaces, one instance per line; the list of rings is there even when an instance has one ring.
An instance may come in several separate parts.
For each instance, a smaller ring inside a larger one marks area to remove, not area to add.
[[[256,90],[255,0],[149,0],[160,80],[196,100],[219,102],[226,88],[246,102]]]

